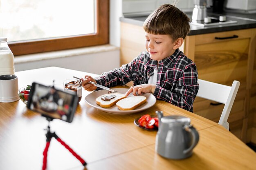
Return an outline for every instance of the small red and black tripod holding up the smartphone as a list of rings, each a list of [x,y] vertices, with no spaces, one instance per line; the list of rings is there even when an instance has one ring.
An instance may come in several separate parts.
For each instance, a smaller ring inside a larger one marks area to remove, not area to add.
[[[60,142],[67,150],[69,150],[73,155],[74,157],[76,157],[76,159],[78,159],[82,164],[83,166],[86,166],[86,162],[78,155],[76,154],[76,152],[74,152],[74,150],[72,150],[64,141],[62,141],[57,135],[55,132],[50,132],[50,121],[52,121],[52,118],[50,117],[46,117],[47,121],[49,121],[49,124],[47,126],[47,133],[45,134],[46,136],[46,146],[45,146],[45,150],[43,151],[43,167],[42,167],[42,170],[45,170],[46,169],[46,164],[47,164],[47,152],[48,152],[48,149],[49,149],[49,145],[50,145],[50,142],[51,142],[51,139],[52,137],[54,137],[58,142]]]

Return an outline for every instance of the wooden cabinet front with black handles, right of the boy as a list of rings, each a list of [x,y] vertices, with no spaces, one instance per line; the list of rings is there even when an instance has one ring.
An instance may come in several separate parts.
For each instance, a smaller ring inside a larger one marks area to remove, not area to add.
[[[198,78],[229,86],[234,80],[240,81],[228,119],[231,132],[240,139],[243,136],[244,119],[249,115],[254,37],[252,29],[244,29],[188,36],[185,41],[185,54],[196,63]],[[218,122],[223,107],[222,104],[198,97],[194,102],[194,113]]]

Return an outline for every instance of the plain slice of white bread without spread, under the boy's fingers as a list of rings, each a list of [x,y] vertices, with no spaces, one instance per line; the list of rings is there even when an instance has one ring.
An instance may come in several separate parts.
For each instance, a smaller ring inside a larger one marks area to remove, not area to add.
[[[134,110],[146,103],[146,101],[147,98],[145,96],[131,96],[118,101],[117,107],[119,110]]]

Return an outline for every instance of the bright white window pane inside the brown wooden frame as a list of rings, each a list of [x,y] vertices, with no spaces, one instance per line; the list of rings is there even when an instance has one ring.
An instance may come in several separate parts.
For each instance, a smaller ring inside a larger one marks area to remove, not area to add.
[[[8,42],[93,34],[94,0],[0,0],[0,36]]]

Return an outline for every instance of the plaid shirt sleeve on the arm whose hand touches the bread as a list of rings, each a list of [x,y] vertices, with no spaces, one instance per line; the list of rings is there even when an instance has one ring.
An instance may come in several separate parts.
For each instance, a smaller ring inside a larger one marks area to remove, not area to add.
[[[167,90],[157,85],[154,96],[159,100],[181,107],[185,110],[193,112],[193,101],[199,89],[198,72],[196,66],[191,64],[186,66],[180,78],[175,84],[174,90]]]

